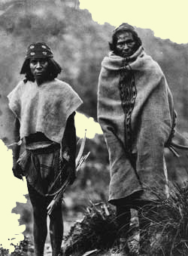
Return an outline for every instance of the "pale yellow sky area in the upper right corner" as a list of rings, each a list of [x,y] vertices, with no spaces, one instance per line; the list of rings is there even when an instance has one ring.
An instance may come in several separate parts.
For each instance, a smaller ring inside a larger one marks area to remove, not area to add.
[[[88,9],[98,23],[130,23],[151,29],[161,39],[178,44],[188,42],[187,0],[80,0],[80,8]]]

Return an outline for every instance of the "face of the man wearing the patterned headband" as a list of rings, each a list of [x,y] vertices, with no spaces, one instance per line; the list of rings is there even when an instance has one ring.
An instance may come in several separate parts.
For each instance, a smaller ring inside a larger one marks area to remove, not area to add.
[[[48,61],[47,59],[32,59],[29,63],[32,75],[35,77],[35,79],[45,79],[45,76],[47,75],[47,66]]]

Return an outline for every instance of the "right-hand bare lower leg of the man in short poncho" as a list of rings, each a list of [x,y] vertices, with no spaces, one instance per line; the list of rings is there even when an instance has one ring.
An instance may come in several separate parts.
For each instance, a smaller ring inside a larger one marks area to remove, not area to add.
[[[58,254],[61,252],[62,236],[62,207],[59,204],[50,215],[50,240],[52,245],[52,256],[58,256]]]

